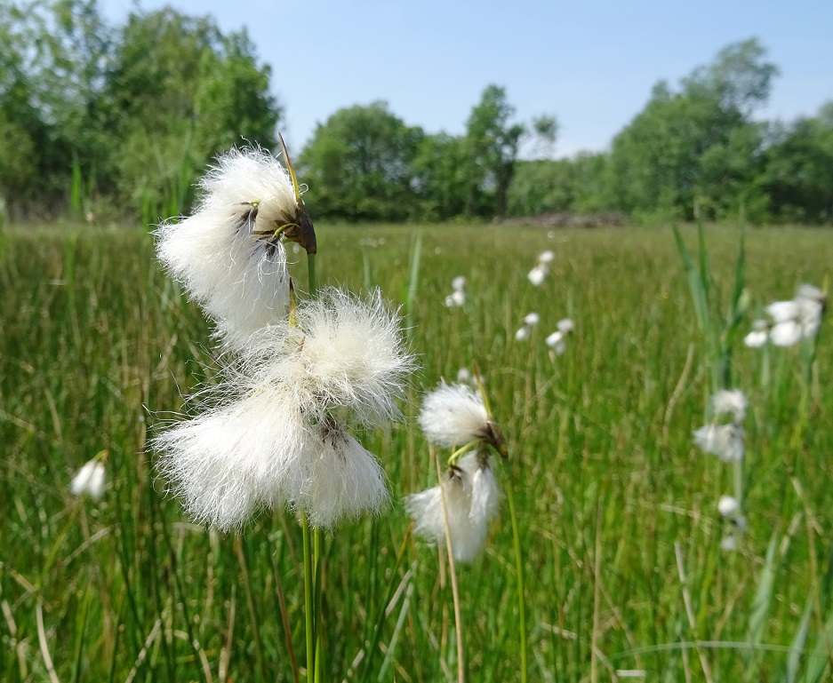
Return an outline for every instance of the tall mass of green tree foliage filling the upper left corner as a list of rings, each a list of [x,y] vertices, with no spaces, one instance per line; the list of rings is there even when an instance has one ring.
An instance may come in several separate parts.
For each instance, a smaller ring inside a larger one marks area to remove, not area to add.
[[[196,173],[281,108],[244,32],[165,8],[109,27],[94,0],[0,6],[0,196],[13,215],[187,209]]]

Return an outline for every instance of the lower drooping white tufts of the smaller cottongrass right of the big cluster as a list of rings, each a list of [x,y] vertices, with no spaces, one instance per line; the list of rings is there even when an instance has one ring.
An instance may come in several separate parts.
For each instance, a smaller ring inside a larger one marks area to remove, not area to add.
[[[461,457],[452,473],[444,474],[441,485],[405,497],[415,533],[432,545],[445,541],[444,494],[454,560],[475,560],[501,498],[488,460],[469,453]]]

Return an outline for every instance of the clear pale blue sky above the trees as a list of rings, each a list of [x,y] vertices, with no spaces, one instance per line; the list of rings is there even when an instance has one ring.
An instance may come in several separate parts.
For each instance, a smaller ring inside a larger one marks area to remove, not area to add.
[[[122,22],[135,3],[100,0]],[[556,115],[556,155],[605,149],[660,79],[676,84],[727,44],[757,36],[781,68],[760,118],[813,115],[833,99],[831,0],[267,2],[142,0],[246,27],[300,148],[340,107],[388,101],[410,125],[459,134],[489,83],[517,118]]]

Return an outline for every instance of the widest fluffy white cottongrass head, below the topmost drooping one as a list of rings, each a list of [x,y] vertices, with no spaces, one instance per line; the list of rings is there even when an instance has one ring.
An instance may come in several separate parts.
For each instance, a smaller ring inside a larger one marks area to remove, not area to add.
[[[399,417],[413,359],[396,315],[378,294],[324,290],[294,322],[254,334],[216,405],[152,441],[158,470],[200,522],[240,528],[260,507],[288,505],[329,528],[387,500],[375,457],[333,415]]]

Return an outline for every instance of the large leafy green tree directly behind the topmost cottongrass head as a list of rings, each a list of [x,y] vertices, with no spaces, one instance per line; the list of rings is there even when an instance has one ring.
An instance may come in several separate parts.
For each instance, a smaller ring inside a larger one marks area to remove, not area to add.
[[[281,108],[243,33],[165,8],[132,13],[117,36],[106,89],[120,140],[116,195],[146,220],[188,208],[212,156],[248,141],[276,145]]]

